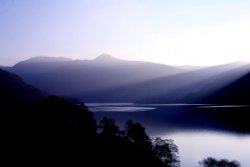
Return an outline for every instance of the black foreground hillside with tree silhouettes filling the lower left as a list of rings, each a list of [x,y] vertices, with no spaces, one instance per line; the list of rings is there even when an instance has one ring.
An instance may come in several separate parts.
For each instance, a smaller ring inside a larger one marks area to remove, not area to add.
[[[140,124],[130,122],[132,131],[126,134],[109,119],[98,128],[93,114],[84,106],[56,96],[28,101],[41,91],[5,71],[1,71],[0,80],[0,89],[4,91],[1,100],[5,102],[0,105],[1,163],[164,166]],[[133,129],[139,136],[134,135]]]

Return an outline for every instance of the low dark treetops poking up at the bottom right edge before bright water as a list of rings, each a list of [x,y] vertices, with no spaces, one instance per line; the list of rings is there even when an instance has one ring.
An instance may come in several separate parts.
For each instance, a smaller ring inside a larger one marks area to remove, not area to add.
[[[240,167],[240,163],[238,161],[229,161],[227,159],[217,160],[212,157],[208,157],[199,162],[202,167]]]

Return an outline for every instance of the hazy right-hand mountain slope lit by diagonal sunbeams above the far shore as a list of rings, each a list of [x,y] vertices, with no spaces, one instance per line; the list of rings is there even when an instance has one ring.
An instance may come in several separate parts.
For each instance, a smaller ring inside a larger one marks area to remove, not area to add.
[[[197,103],[245,75],[249,70],[250,66],[245,64],[219,65],[85,93],[79,95],[79,98],[88,102]]]

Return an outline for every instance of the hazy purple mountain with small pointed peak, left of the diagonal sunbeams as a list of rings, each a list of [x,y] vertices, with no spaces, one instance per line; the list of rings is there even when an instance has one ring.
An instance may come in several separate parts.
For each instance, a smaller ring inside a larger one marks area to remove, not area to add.
[[[27,60],[6,70],[18,74],[27,83],[42,90],[72,97],[183,72],[172,66],[120,60],[108,55],[101,55],[94,60],[58,62]]]

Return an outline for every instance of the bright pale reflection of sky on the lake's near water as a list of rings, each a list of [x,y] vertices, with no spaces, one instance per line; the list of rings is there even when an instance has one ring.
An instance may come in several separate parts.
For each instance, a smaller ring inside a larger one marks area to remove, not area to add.
[[[237,160],[250,166],[250,135],[216,131],[182,131],[161,135],[174,139],[179,147],[182,166],[198,167],[198,161],[206,157]]]

